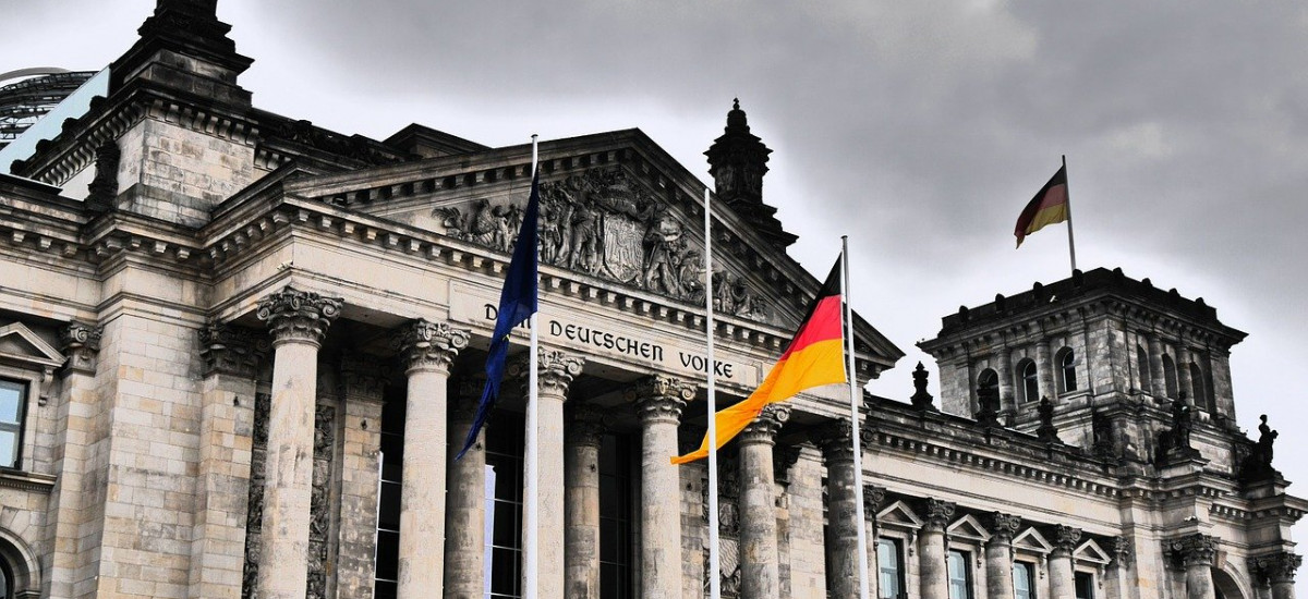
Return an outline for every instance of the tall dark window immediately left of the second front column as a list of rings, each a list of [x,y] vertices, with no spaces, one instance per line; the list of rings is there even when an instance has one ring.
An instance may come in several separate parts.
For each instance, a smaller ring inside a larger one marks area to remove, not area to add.
[[[386,387],[382,405],[382,483],[377,496],[377,568],[373,594],[394,599],[400,568],[400,481],[404,466],[404,394]]]

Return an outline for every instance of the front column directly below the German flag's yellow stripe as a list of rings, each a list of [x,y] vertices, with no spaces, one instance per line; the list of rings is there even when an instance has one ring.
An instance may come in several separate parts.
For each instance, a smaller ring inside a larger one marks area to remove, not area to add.
[[[790,419],[786,405],[763,409],[738,437],[740,453],[740,596],[777,599],[781,573],[777,562],[777,507],[772,447],[777,432]]]

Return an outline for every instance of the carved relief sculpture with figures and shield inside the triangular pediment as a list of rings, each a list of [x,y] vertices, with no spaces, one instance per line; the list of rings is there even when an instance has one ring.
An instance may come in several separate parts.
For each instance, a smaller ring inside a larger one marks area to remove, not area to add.
[[[467,208],[468,212],[464,212]],[[453,238],[511,251],[523,208],[485,199],[439,207],[433,216]],[[591,169],[540,184],[540,260],[692,303],[704,302],[704,254],[651,194],[619,169]],[[764,320],[765,302],[743,276],[713,273],[714,307]]]

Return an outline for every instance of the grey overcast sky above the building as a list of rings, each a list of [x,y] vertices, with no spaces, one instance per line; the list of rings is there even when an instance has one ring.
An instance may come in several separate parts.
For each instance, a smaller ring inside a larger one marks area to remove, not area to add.
[[[0,0],[0,72],[98,69],[153,5]],[[1067,276],[1065,225],[1020,250],[1012,237],[1067,154],[1078,265],[1203,297],[1247,331],[1240,424],[1269,413],[1277,466],[1308,481],[1290,459],[1308,453],[1291,430],[1308,392],[1290,377],[1308,339],[1303,3],[222,0],[218,14],[255,59],[241,84],[256,106],[375,139],[411,122],[488,145],[640,127],[708,182],[702,152],[739,97],[774,150],[764,196],[800,235],[790,254],[820,275],[850,235],[855,309],[908,352],[871,387],[893,398],[918,360],[934,366],[914,343],[942,315]]]

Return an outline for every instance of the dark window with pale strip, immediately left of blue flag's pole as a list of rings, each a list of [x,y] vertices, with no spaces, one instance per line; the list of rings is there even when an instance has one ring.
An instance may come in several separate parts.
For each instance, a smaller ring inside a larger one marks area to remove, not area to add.
[[[492,599],[522,596],[522,415],[496,413],[487,426],[487,548]],[[542,476],[549,476],[542,472]]]

